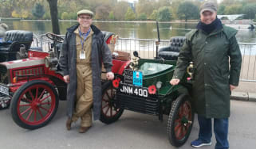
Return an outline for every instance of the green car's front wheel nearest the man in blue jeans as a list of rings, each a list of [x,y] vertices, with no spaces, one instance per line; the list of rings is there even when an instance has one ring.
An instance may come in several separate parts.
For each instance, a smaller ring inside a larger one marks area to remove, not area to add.
[[[167,122],[167,134],[170,143],[180,147],[186,143],[193,126],[194,111],[191,106],[191,97],[181,94],[172,102],[171,112]]]

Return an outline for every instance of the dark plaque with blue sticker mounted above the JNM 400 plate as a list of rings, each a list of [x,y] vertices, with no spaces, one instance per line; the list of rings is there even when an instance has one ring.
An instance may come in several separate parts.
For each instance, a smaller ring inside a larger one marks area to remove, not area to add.
[[[142,86],[142,72],[141,71],[132,71],[124,70],[124,83],[131,84],[134,86]]]

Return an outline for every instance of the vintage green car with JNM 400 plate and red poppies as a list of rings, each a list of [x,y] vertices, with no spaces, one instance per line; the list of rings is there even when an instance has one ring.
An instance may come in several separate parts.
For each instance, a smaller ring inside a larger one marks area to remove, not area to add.
[[[115,122],[124,109],[155,115],[163,121],[168,115],[167,135],[170,143],[179,147],[191,133],[194,111],[191,105],[190,74],[193,67],[177,86],[171,86],[176,60],[135,58],[116,75],[112,86],[103,91],[100,120],[105,124]]]

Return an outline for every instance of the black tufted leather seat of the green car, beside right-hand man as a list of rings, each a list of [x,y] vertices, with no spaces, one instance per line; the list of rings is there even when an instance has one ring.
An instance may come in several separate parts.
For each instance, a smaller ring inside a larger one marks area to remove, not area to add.
[[[185,42],[185,36],[173,36],[170,40],[170,46],[160,48],[159,56],[167,60],[177,60],[179,55],[179,50],[182,48]]]

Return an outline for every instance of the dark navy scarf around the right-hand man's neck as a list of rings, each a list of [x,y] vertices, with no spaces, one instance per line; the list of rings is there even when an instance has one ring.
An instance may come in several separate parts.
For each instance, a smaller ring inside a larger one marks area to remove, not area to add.
[[[202,29],[204,32],[207,32],[207,34],[210,34],[215,30],[223,29],[223,24],[219,18],[216,17],[215,21],[211,22],[209,25],[199,21],[199,23],[196,25],[196,29]]]

